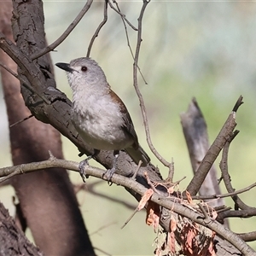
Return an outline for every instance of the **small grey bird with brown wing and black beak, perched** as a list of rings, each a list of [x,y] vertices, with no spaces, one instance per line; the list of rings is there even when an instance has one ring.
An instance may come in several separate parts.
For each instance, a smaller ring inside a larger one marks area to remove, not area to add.
[[[113,167],[103,174],[111,180],[116,171],[119,151],[125,150],[138,165],[147,166],[148,154],[138,143],[137,133],[125,103],[111,90],[105,73],[90,57],[81,57],[70,63],[59,62],[57,67],[67,73],[73,91],[71,119],[84,143],[94,148],[94,153],[79,163],[84,180],[84,166],[101,150],[113,150]]]

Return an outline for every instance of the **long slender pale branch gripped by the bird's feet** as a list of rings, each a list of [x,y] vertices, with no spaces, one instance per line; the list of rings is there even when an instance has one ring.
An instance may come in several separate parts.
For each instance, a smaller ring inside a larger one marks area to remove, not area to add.
[[[25,172],[34,172],[35,170],[40,170],[40,169],[45,169],[50,167],[63,167],[65,169],[79,172],[79,163],[73,162],[73,161],[67,161],[67,160],[59,160],[51,156],[49,160],[45,160],[42,162],[34,162],[34,163],[24,164],[20,166],[2,168],[0,169],[0,177],[11,175],[14,172],[15,174],[20,174]],[[91,166],[86,166],[85,172],[89,176],[102,178],[102,173],[104,172],[104,170],[91,167]],[[123,177],[121,175],[114,173],[112,181],[113,183],[122,185],[127,189],[133,189],[139,195],[144,195],[145,192],[147,191],[147,188],[145,188],[143,185],[137,183],[136,181],[134,181],[129,177]],[[241,238],[239,238],[239,236],[236,236],[236,234],[224,228],[222,224],[219,224],[216,220],[212,219],[211,217],[209,217],[206,222],[204,215],[202,215],[200,212],[192,210],[191,207],[177,203],[176,197],[166,197],[166,195],[160,195],[160,194],[154,193],[154,195],[152,195],[150,200],[162,207],[166,207],[167,209],[172,210],[173,212],[177,212],[177,214],[185,218],[189,218],[191,221],[195,223],[201,224],[215,231],[219,236],[223,236],[224,239],[226,239],[227,241],[230,241],[230,243],[233,246],[235,246],[238,250],[240,250],[241,253],[243,253],[243,255],[245,256],[254,255],[253,253],[255,252],[253,251],[253,249],[249,247],[247,244],[245,244],[244,241],[242,241]]]

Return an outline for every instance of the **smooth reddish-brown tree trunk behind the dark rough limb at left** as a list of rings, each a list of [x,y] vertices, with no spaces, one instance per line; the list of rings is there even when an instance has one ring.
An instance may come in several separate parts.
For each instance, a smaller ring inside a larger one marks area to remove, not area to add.
[[[10,40],[12,39],[11,9],[10,1],[1,3],[0,30]],[[36,10],[33,11],[36,15]],[[27,22],[28,20],[25,19],[21,24],[30,27]],[[41,47],[45,46],[44,40],[41,44]],[[26,50],[25,48],[20,44],[20,49]],[[44,58],[49,61],[49,57]],[[17,70],[15,62],[3,51],[0,52],[0,60],[10,69]],[[1,74],[9,125],[11,125],[31,113],[20,94],[19,81],[3,69]],[[10,129],[9,136],[14,165],[46,160],[49,158],[48,150],[58,158],[63,158],[60,133],[51,125],[39,122],[37,119],[28,119],[15,125]],[[72,183],[64,169],[53,168],[50,171],[13,177],[12,184],[19,197],[26,223],[42,252],[46,255],[95,255]]]

